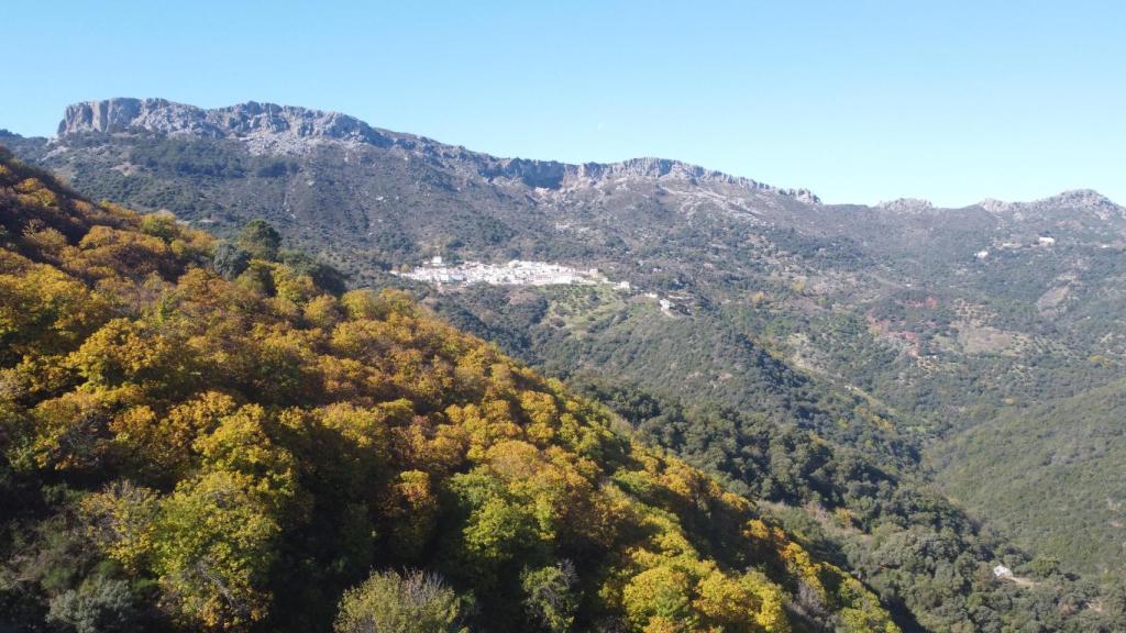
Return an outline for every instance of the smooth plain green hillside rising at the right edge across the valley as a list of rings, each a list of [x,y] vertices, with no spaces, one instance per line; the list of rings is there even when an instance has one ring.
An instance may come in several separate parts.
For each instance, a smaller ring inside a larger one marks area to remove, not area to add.
[[[998,526],[1037,545],[1045,561],[1121,577],[1126,556],[1106,553],[1126,551],[1117,501],[1126,496],[1126,430],[1107,420],[1126,420],[1126,381],[1007,412],[936,454],[960,456],[944,469],[953,496],[971,508],[998,508]]]

